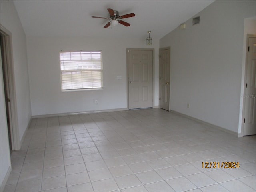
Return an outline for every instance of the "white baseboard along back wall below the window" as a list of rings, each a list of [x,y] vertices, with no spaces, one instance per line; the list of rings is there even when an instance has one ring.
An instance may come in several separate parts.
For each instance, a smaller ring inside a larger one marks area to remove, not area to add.
[[[127,110],[128,110],[128,108],[119,108],[119,109],[106,109],[106,110],[96,110],[96,111],[86,111],[86,112],[71,112],[71,113],[34,115],[34,116],[32,116],[32,119],[35,119],[35,118],[47,118],[47,117],[57,117],[57,116],[68,116],[68,115],[79,115],[79,114],[90,114],[90,113],[127,111]]]

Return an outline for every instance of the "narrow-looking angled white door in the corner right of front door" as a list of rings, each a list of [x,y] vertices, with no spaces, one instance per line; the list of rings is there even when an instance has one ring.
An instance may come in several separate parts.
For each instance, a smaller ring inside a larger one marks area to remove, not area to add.
[[[159,60],[159,104],[170,110],[170,48],[160,50]]]

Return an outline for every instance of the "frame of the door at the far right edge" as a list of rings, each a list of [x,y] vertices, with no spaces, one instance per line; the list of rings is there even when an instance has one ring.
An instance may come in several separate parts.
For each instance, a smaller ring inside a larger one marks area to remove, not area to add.
[[[248,62],[248,51],[247,48],[249,46],[249,38],[256,38],[254,34],[247,34],[246,35],[246,57],[245,57],[245,70],[244,70],[244,90],[242,92],[243,96],[243,110],[242,110],[242,121],[241,121],[241,134],[238,136],[244,136],[244,115],[245,115],[245,97],[244,94],[246,93],[246,79],[247,79],[247,62]]]

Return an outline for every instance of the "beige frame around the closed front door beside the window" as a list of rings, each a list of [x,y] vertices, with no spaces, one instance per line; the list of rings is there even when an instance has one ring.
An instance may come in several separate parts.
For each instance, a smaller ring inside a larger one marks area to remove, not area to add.
[[[152,101],[152,106],[154,108],[154,101],[155,101],[155,49],[154,48],[126,48],[126,97],[127,97],[127,109],[129,109],[129,74],[128,74],[128,53],[129,53],[129,50],[132,50],[132,51],[152,51],[152,54],[153,54],[153,57],[152,57],[152,64],[153,64],[153,71],[152,71],[152,80],[153,80],[153,84],[152,84],[152,94],[153,94],[153,101]]]

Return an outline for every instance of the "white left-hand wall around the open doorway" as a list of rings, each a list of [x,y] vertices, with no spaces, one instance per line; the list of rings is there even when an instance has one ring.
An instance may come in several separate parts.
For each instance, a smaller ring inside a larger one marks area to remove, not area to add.
[[[26,53],[26,36],[20,23],[20,19],[12,1],[0,1],[1,3],[1,25],[4,26],[12,34],[12,54],[14,63],[14,82],[18,115],[18,130],[20,140],[28,127],[31,118],[28,66]],[[2,89],[1,77],[1,185],[7,169],[10,166],[10,155],[8,154],[9,146],[6,143],[8,138],[6,115],[4,110],[4,96]],[[3,143],[2,143],[3,142]],[[5,144],[4,144],[5,143]],[[4,155],[2,154],[4,153]]]

